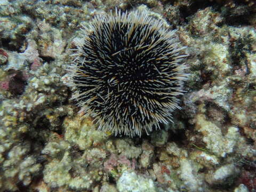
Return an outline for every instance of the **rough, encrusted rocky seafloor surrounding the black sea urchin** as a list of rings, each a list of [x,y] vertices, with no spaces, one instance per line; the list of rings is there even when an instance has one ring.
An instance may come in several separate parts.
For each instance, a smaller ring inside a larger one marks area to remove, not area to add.
[[[177,29],[190,74],[173,122],[141,138],[81,120],[67,66],[115,7]],[[253,0],[0,0],[0,191],[256,191]]]

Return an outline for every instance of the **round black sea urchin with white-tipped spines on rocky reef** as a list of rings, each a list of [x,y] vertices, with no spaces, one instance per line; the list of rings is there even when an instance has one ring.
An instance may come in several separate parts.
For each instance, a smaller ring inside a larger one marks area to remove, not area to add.
[[[85,116],[130,137],[171,121],[187,77],[175,31],[146,12],[120,11],[82,30],[68,84]]]

